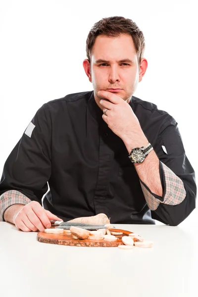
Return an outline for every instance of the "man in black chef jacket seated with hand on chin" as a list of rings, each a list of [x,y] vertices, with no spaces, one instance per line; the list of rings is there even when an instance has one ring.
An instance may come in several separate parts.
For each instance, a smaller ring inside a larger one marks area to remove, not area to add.
[[[25,232],[98,213],[111,223],[175,226],[192,212],[195,173],[176,121],[133,96],[147,70],[144,49],[129,19],[94,25],[83,62],[94,91],[38,110],[5,162],[1,220]]]

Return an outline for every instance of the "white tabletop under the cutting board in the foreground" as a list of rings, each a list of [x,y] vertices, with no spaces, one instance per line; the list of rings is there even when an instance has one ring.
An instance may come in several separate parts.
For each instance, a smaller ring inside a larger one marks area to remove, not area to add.
[[[0,222],[0,297],[196,297],[198,228],[116,225],[152,248],[40,243]]]

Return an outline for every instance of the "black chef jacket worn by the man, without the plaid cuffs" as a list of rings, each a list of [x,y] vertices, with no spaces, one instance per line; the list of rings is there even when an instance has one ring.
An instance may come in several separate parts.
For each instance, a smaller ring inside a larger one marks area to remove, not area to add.
[[[133,96],[129,104],[158,158],[183,181],[182,203],[148,208],[128,151],[103,121],[93,91],[49,101],[37,111],[31,137],[23,134],[5,162],[0,195],[17,190],[42,203],[49,183],[44,208],[64,221],[105,213],[111,223],[179,224],[195,208],[196,185],[177,123],[147,101]]]

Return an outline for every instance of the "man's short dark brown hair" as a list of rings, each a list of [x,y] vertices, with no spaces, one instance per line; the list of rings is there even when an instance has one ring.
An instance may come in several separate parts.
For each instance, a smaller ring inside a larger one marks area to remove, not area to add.
[[[106,17],[94,24],[86,41],[88,60],[91,61],[91,51],[97,36],[105,35],[109,37],[118,37],[121,34],[131,35],[138,55],[138,63],[140,65],[141,58],[145,51],[145,38],[143,32],[131,19],[126,19],[122,16]]]

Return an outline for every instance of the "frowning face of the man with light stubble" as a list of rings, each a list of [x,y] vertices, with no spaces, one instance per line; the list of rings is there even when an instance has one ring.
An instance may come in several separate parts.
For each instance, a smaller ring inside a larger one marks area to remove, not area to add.
[[[142,79],[132,37],[99,35],[92,49],[90,71],[96,97],[98,91],[105,90],[129,102]]]

